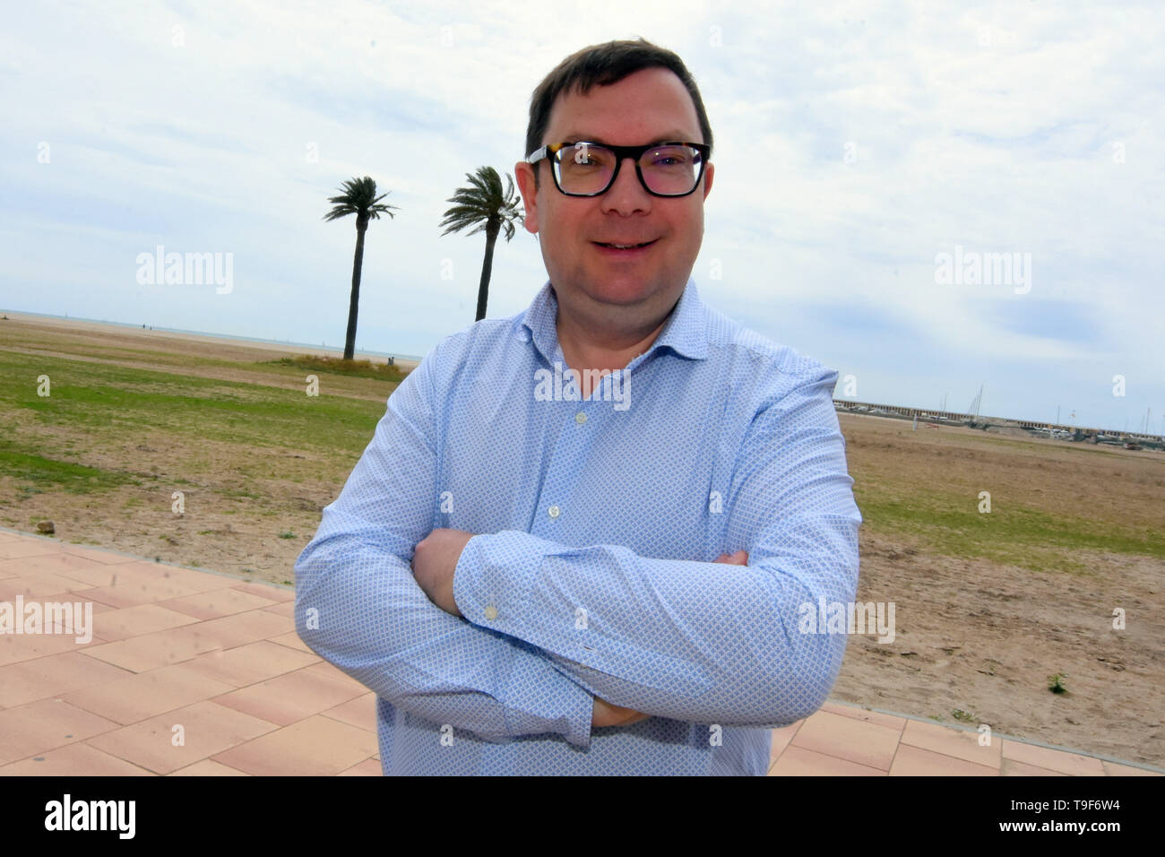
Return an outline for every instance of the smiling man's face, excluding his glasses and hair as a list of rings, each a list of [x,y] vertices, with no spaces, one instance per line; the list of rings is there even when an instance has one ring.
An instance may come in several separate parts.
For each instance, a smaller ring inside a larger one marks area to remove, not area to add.
[[[586,96],[560,94],[543,143],[587,140],[644,146],[685,140],[704,142],[692,98],[671,71],[643,69]],[[535,191],[534,170],[541,170]],[[515,167],[525,204],[525,227],[539,236],[546,272],[559,305],[591,318],[640,319],[666,314],[683,294],[704,239],[704,199],[712,189],[712,164],[701,187],[685,197],[651,196],[635,166],[624,160],[615,183],[596,197],[569,197],[555,187],[549,161]],[[615,250],[609,244],[650,246]]]

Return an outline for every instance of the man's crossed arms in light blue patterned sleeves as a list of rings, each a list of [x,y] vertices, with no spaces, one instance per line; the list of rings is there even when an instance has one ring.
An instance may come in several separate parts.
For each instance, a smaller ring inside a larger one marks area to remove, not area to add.
[[[586,746],[592,726],[641,716],[799,719],[825,700],[845,637],[799,634],[797,606],[849,600],[856,586],[860,517],[833,380],[803,380],[748,431],[727,541],[749,564],[486,533],[463,541],[447,575],[463,619],[430,599],[411,566],[426,539],[443,538],[430,532],[437,393],[426,360],[390,398],[297,562],[299,637],[395,707],[486,740],[555,733]],[[492,612],[504,591],[523,593],[521,609]],[[601,616],[582,637],[566,620],[580,603]]]

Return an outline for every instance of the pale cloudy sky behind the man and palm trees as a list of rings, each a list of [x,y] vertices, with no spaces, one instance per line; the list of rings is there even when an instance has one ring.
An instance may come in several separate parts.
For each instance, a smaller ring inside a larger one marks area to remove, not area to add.
[[[424,354],[476,301],[483,237],[440,237],[446,199],[479,166],[513,170],[559,59],[643,36],[684,57],[715,134],[693,271],[708,303],[864,401],[963,410],[983,385],[986,414],[1136,429],[1151,408],[1163,430],[1157,2],[49,1],[5,17],[2,309],[341,346],[354,218],[322,217],[369,175],[400,211],[367,234],[358,346]],[[230,253],[230,291],[139,282],[158,246]],[[544,280],[535,237],[500,243],[489,316]]]

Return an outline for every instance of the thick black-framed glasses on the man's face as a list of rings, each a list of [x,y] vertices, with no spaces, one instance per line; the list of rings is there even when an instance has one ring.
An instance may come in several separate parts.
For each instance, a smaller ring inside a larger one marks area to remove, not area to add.
[[[635,175],[651,196],[687,196],[700,184],[708,147],[691,142],[657,142],[647,146],[602,146],[577,141],[543,146],[527,163],[548,159],[555,187],[566,196],[600,196],[619,176],[624,157],[635,161]]]

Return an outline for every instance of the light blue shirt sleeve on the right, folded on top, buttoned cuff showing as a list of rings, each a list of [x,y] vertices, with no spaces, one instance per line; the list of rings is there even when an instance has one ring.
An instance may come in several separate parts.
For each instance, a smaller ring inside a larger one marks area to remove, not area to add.
[[[822,370],[753,420],[726,504],[726,550],[748,567],[569,547],[517,531],[479,535],[454,598],[476,625],[555,656],[617,705],[696,723],[771,726],[825,701],[843,633],[802,633],[803,605],[853,600],[861,515]]]

